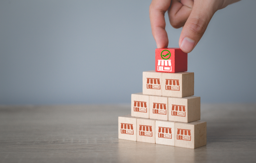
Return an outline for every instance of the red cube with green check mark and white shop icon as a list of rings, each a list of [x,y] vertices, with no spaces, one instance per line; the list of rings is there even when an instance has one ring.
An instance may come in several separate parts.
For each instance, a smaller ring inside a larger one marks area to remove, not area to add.
[[[156,49],[155,66],[157,72],[188,71],[188,53],[184,53],[180,48]]]

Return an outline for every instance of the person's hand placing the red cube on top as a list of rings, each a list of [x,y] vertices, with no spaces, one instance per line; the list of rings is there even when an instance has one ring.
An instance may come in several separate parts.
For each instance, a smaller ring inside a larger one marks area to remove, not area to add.
[[[164,19],[167,10],[171,25],[183,27],[179,46],[183,52],[189,53],[203,36],[213,14],[237,1],[240,0],[152,0],[149,17],[157,48],[168,46]]]

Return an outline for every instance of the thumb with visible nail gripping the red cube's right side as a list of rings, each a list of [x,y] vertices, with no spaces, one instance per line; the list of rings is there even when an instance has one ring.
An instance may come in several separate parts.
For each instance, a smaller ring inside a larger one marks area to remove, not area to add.
[[[179,46],[183,52],[189,53],[195,48],[216,11],[212,0],[194,1],[193,9],[179,39]]]

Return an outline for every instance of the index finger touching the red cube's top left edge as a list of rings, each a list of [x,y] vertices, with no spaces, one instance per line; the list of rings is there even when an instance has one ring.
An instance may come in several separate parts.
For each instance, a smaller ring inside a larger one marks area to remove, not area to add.
[[[155,38],[157,48],[168,46],[168,36],[165,30],[164,14],[171,5],[171,0],[152,0],[149,7],[149,17],[152,34]]]

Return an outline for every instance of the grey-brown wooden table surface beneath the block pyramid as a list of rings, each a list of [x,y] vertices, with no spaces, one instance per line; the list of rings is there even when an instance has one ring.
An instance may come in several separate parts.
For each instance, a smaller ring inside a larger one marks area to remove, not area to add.
[[[129,105],[0,106],[0,162],[256,162],[256,104],[201,105],[207,145],[118,139]]]

